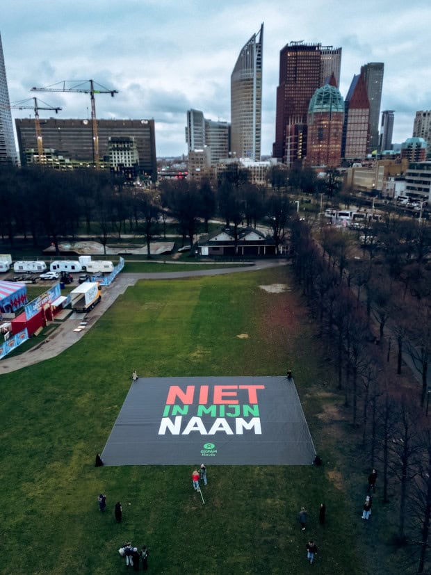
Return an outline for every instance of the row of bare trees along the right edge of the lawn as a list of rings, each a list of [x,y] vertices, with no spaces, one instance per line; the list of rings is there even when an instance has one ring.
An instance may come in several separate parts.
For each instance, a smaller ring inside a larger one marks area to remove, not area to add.
[[[387,229],[395,233],[389,224]],[[418,552],[418,572],[423,573],[429,567],[431,521],[428,405],[426,414],[423,410],[431,350],[430,301],[423,291],[419,296],[418,289],[400,289],[405,268],[395,270],[391,258],[401,248],[388,248],[389,261],[382,257],[376,264],[375,257],[366,254],[355,259],[350,237],[328,227],[320,233],[320,241],[315,241],[307,222],[293,220],[293,268],[316,318],[318,335],[334,358],[336,387],[343,394],[355,432],[361,432],[366,461],[379,469],[383,501],[397,501],[396,540]],[[400,234],[398,243],[404,243]],[[412,253],[414,247],[402,250]],[[425,259],[418,253],[414,261],[425,269]],[[412,257],[405,262],[410,265]],[[390,345],[392,338],[398,346],[398,371],[405,352],[415,358],[423,376],[420,402],[414,384],[412,389],[400,390],[388,375],[391,353],[388,348],[386,355],[383,342]]]

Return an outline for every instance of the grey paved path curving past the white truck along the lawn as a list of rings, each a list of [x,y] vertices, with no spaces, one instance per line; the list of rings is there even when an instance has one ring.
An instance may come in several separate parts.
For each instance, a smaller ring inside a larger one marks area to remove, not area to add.
[[[92,309],[88,314],[75,314],[72,313],[67,320],[63,321],[56,330],[44,339],[40,345],[31,348],[22,355],[15,357],[6,357],[0,360],[0,375],[1,373],[10,373],[17,371],[22,367],[30,366],[56,357],[65,349],[73,346],[76,341],[95,325],[97,320],[104,314],[106,309],[111,307],[113,302],[119,295],[124,293],[129,286],[136,284],[138,280],[177,280],[181,277],[199,277],[203,275],[221,275],[227,273],[238,273],[245,271],[256,271],[265,268],[274,268],[277,266],[285,266],[286,259],[271,259],[265,261],[257,261],[253,266],[243,266],[241,268],[224,268],[220,270],[187,270],[183,272],[169,272],[169,273],[120,273],[115,278],[115,281],[110,286],[102,286],[101,301]],[[88,322],[86,327],[81,332],[74,332],[76,327],[79,327],[81,321]]]

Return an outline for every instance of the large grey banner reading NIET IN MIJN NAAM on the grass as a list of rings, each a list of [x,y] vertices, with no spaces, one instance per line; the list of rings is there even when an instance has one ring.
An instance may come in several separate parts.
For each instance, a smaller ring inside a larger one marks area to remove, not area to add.
[[[106,465],[299,465],[316,455],[293,380],[139,378],[102,453]]]

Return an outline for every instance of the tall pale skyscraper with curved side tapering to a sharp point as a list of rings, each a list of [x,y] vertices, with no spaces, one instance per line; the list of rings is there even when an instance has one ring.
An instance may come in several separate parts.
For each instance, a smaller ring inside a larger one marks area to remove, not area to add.
[[[241,50],[231,74],[231,152],[261,158],[263,24]]]

